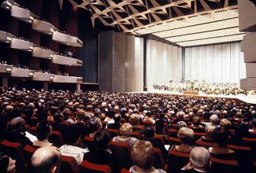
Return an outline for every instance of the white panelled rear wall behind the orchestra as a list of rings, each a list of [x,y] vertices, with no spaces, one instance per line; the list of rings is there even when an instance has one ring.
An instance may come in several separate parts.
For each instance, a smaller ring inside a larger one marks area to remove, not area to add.
[[[246,77],[240,43],[185,48],[185,79],[239,83]]]

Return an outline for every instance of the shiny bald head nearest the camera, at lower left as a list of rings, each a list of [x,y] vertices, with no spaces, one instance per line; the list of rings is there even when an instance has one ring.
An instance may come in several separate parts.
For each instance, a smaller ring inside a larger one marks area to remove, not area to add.
[[[54,146],[44,146],[35,151],[31,160],[33,172],[58,173],[61,164],[61,153]]]

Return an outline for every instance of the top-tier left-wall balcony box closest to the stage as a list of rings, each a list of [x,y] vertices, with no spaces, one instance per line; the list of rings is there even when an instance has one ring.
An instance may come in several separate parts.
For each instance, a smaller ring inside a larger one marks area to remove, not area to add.
[[[77,37],[74,37],[65,33],[61,33],[60,31],[53,32],[53,40],[55,42],[59,42],[61,44],[65,44],[68,46],[73,46],[73,47],[83,46],[83,42]]]

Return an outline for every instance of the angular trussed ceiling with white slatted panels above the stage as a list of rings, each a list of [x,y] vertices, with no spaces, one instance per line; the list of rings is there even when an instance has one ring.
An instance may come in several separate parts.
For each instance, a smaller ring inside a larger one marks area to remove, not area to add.
[[[62,4],[63,0],[59,0]],[[243,39],[237,0],[65,0],[91,12],[91,22],[127,34],[153,34],[180,46]]]

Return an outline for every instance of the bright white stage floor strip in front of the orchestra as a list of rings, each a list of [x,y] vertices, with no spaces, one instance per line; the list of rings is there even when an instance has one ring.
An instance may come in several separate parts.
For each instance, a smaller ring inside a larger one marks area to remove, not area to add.
[[[210,98],[225,98],[225,99],[231,99],[234,101],[243,101],[246,103],[254,104],[256,105],[256,95],[215,95],[215,94],[181,94],[181,93],[175,93],[175,92],[170,92],[166,90],[150,90],[150,91],[143,91],[143,92],[134,92],[134,93],[158,93],[158,94],[173,94],[173,95],[187,95],[187,96],[194,96],[194,97],[210,97]]]

